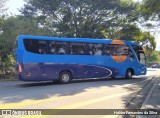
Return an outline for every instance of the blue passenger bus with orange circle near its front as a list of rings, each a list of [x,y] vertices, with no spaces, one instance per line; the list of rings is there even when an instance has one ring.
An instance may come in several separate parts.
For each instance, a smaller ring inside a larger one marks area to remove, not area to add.
[[[130,79],[146,74],[142,47],[122,40],[20,35],[16,57],[23,81],[70,83],[72,79]]]

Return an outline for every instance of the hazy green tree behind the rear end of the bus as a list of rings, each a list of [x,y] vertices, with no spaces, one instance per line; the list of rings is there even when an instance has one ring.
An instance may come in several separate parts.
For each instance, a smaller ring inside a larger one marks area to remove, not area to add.
[[[0,35],[0,73],[11,72],[14,69],[13,49],[18,35],[47,35],[47,31],[33,19],[23,17],[8,17],[1,23],[3,34]]]

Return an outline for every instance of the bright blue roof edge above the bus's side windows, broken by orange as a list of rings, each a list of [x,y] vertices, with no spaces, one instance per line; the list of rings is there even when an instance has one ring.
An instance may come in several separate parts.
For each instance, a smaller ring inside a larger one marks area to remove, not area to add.
[[[98,39],[98,38],[66,38],[66,37],[49,37],[49,36],[33,36],[33,35],[19,35],[18,40],[23,39],[38,39],[38,40],[57,40],[57,41],[72,41],[72,42],[90,42],[90,43],[107,43],[111,44],[113,40],[111,39]],[[122,41],[122,40],[121,40]],[[136,43],[123,40],[127,45],[137,45]]]

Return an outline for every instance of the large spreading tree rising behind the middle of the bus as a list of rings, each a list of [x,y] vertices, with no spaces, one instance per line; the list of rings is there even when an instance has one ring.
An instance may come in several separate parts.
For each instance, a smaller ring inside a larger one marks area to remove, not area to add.
[[[103,31],[111,37],[122,21],[133,22],[135,9],[131,0],[28,0],[21,13],[54,36],[105,38]]]

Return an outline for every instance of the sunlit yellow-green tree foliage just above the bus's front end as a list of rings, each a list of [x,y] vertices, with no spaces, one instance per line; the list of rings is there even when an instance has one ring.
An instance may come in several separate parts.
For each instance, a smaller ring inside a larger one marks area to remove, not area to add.
[[[105,31],[103,30],[102,33],[105,34]],[[112,39],[134,41],[150,53],[156,48],[155,38],[149,32],[142,32],[136,25],[125,25],[122,29],[114,32],[112,37]]]

